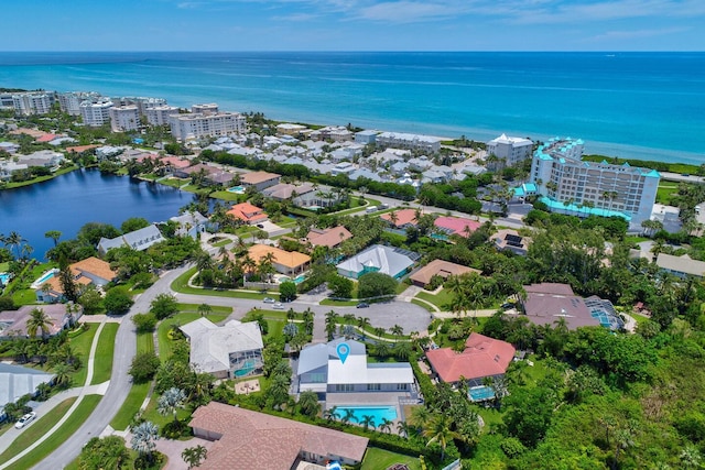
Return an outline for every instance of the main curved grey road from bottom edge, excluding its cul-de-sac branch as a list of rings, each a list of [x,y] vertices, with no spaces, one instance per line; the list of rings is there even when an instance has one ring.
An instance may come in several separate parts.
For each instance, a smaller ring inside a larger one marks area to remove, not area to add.
[[[134,302],[130,311],[124,315],[115,339],[115,357],[112,359],[112,374],[108,391],[93,414],[62,446],[42,460],[35,469],[56,470],[70,463],[78,455],[84,444],[91,437],[100,436],[100,433],[110,424],[115,415],[130,392],[132,382],[128,370],[132,358],[137,352],[137,332],[132,324],[132,315],[147,313],[150,304],[159,294],[171,293],[172,282],[178,277],[186,267],[170,271],[164,274],[152,287],[141,294]]]

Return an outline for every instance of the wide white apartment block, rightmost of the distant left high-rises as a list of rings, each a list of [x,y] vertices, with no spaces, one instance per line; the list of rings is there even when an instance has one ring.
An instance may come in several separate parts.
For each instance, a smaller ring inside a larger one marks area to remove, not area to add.
[[[183,142],[204,136],[243,133],[246,120],[239,112],[172,114],[169,118],[169,125],[172,135]]]

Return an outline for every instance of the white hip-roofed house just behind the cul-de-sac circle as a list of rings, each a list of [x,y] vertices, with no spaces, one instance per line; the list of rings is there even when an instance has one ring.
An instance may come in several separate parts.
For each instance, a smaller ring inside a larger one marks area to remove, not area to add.
[[[405,274],[414,261],[416,253],[393,247],[373,244],[355,256],[348,258],[336,267],[341,276],[358,278],[369,272],[379,272],[392,277]]]

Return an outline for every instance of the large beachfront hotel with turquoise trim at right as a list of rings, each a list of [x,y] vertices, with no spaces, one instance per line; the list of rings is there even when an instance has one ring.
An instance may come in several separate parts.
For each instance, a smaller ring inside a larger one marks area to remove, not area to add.
[[[551,211],[573,216],[619,216],[640,227],[651,217],[661,175],[655,170],[584,162],[582,140],[554,138],[540,145],[531,183]]]

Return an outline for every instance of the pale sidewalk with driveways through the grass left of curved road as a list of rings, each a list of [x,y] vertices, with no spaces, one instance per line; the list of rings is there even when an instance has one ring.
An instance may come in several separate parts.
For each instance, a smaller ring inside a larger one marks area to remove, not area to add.
[[[100,326],[98,327],[98,330],[96,331],[96,336],[93,339],[93,343],[90,345],[90,353],[88,356],[88,373],[86,374],[86,382],[84,382],[84,386],[77,386],[77,387],[74,387],[74,389],[65,390],[65,391],[52,396],[46,402],[43,402],[36,408],[37,409],[37,418],[36,419],[37,420],[41,419],[43,415],[48,413],[51,409],[53,409],[55,406],[57,406],[64,400],[70,398],[73,396],[77,396],[78,398],[73,403],[70,408],[68,408],[68,412],[66,412],[66,414],[48,431],[46,431],[42,437],[40,437],[36,441],[34,441],[31,446],[26,447],[20,453],[18,453],[17,456],[11,458],[7,462],[3,462],[2,464],[0,464],[0,470],[12,466],[14,462],[17,462],[22,457],[24,457],[28,453],[30,453],[31,451],[33,451],[42,442],[44,442],[46,439],[48,439],[54,433],[56,433],[64,425],[64,423],[66,423],[68,417],[76,411],[78,405],[80,405],[80,402],[83,402],[84,396],[86,396],[86,395],[95,395],[95,394],[105,395],[106,391],[108,390],[108,384],[110,382],[108,381],[108,382],[104,382],[104,383],[98,384],[98,385],[90,385],[90,381],[93,380],[93,372],[94,372],[94,367],[95,367],[96,349],[98,348],[98,340],[100,339],[100,332],[102,331],[102,327],[105,326],[105,324],[107,321],[108,321],[107,317],[102,318],[102,321],[100,323]],[[2,436],[0,436],[0,453],[3,452],[14,441],[14,439],[18,438],[18,436],[20,436],[25,429],[29,429],[32,426],[36,426],[36,423],[33,423],[30,426],[28,426],[25,428],[22,428],[22,429],[15,429],[14,427],[12,427],[7,433],[4,433]]]

